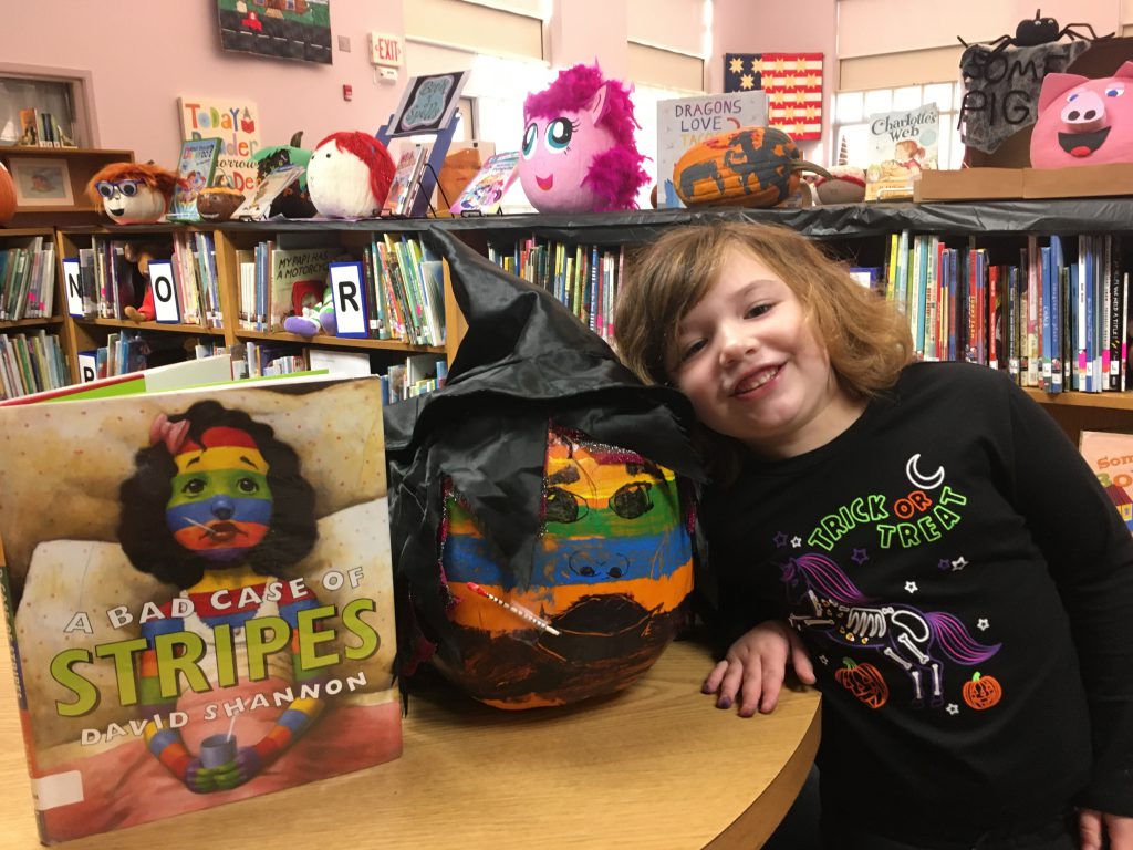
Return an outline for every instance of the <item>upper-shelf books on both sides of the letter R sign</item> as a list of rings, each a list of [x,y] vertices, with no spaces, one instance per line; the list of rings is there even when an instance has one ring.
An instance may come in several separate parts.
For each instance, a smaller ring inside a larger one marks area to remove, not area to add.
[[[368,337],[444,345],[443,263],[417,239],[375,233],[360,261],[337,247],[283,248],[274,240],[236,254],[244,330],[288,330],[289,317],[326,303],[331,263],[360,262]]]

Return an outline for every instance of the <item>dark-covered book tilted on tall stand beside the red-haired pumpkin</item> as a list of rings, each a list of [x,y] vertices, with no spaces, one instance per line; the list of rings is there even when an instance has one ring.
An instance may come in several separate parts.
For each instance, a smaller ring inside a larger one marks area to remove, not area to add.
[[[406,213],[409,216],[423,218],[428,209],[437,175],[457,131],[460,92],[469,75],[470,71],[462,70],[411,77],[389,124],[375,134],[386,147],[392,139],[403,136],[435,137],[420,170],[417,196]]]

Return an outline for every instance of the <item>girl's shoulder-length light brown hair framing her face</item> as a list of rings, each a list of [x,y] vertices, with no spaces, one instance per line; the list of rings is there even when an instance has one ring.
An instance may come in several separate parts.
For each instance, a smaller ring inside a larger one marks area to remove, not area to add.
[[[791,288],[845,392],[864,399],[896,383],[912,358],[908,320],[810,239],[747,222],[676,228],[630,257],[614,337],[641,380],[668,382],[665,364],[678,325],[719,279],[730,248],[753,254]]]

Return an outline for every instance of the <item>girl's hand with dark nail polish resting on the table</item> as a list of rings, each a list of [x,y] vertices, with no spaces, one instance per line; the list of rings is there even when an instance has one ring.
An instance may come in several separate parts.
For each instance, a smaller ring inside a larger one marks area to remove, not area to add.
[[[731,708],[739,694],[741,717],[757,708],[767,714],[778,704],[789,661],[800,681],[815,683],[815,669],[794,630],[783,620],[761,622],[732,644],[701,690],[716,694],[718,708]]]

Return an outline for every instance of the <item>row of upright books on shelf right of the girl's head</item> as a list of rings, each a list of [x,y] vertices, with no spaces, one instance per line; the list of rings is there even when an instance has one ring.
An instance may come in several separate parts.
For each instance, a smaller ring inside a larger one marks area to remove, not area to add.
[[[982,363],[1048,393],[1127,389],[1119,237],[1029,236],[1000,250],[902,231],[880,277],[922,359]]]

